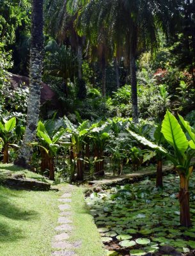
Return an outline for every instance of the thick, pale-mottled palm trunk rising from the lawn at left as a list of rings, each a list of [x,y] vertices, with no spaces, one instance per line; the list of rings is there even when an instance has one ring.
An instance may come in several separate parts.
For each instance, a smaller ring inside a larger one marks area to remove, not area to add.
[[[36,125],[40,112],[43,60],[43,0],[32,1],[30,54],[30,93],[27,108],[27,125],[19,157],[15,161],[15,164],[27,168],[30,167],[32,156],[32,147],[29,143],[35,140]]]

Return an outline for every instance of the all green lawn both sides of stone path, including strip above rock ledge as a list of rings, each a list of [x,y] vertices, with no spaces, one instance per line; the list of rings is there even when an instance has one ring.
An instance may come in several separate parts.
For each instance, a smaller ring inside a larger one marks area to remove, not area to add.
[[[22,173],[26,177],[45,180],[44,177],[13,164],[0,164],[4,172]],[[63,188],[59,184],[55,188]],[[0,186],[0,255],[1,256],[51,256],[51,241],[58,225],[58,198],[62,191],[24,191]],[[82,188],[72,195],[72,220],[74,232],[70,239],[82,239],[82,247],[75,249],[78,256],[105,256],[100,234],[86,208]]]

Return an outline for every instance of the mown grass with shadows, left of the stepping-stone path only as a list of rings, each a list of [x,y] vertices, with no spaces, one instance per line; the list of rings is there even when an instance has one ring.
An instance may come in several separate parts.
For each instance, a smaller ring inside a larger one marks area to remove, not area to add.
[[[58,220],[56,191],[0,186],[0,255],[49,256]]]

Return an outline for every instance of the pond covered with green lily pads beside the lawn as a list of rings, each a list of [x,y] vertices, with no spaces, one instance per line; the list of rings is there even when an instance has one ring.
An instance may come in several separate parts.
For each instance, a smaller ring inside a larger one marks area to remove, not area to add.
[[[107,255],[169,255],[161,246],[173,246],[187,255],[195,249],[195,175],[190,181],[192,226],[180,226],[179,177],[164,177],[116,186],[92,193],[86,202],[105,244]]]

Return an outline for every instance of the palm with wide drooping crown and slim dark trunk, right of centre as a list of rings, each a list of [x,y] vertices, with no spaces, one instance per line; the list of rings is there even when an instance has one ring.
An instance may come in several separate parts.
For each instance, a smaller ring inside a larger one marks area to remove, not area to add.
[[[177,0],[69,0],[71,6],[82,6],[78,22],[81,35],[97,36],[106,29],[111,45],[125,49],[130,66],[132,86],[132,116],[138,122],[136,60],[143,51],[158,47],[158,30],[168,34],[169,21]],[[87,3],[86,3],[87,2]],[[177,3],[178,2],[178,3]]]

